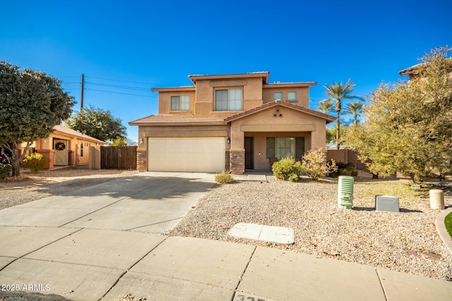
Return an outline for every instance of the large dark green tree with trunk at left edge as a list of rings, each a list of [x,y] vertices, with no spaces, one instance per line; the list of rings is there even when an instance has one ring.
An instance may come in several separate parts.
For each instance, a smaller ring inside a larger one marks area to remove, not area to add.
[[[0,61],[0,148],[20,175],[20,161],[33,141],[49,137],[71,116],[75,102],[57,78]],[[19,145],[26,142],[22,154]]]

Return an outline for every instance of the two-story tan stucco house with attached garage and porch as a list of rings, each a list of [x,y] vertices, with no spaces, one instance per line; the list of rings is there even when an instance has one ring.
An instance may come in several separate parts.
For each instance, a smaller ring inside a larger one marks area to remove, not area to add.
[[[138,125],[139,171],[270,171],[326,145],[335,117],[309,109],[316,82],[268,83],[268,72],[189,75],[189,87],[155,88],[158,115]]]

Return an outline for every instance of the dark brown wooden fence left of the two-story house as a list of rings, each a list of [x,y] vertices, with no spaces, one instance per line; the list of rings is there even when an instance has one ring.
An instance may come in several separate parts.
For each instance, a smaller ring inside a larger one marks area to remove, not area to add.
[[[100,147],[101,169],[136,169],[138,147]]]

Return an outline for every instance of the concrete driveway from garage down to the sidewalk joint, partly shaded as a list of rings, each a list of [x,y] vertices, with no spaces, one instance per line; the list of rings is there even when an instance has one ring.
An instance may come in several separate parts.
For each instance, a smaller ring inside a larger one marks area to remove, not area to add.
[[[165,233],[215,185],[209,173],[138,173],[0,211],[0,226]]]

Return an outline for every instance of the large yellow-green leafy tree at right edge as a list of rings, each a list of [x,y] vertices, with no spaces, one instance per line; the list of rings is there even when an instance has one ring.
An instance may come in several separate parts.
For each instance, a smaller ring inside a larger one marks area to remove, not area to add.
[[[364,110],[367,121],[352,126],[345,141],[367,161],[369,171],[400,171],[417,183],[432,173],[451,173],[452,60],[447,47],[422,58],[408,82],[382,84]]]

